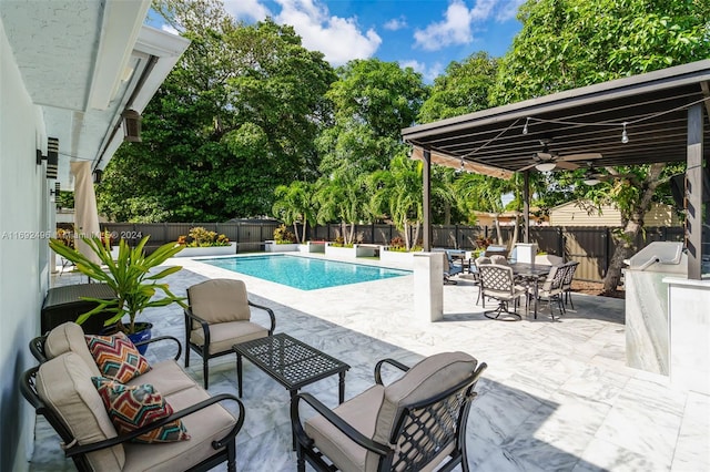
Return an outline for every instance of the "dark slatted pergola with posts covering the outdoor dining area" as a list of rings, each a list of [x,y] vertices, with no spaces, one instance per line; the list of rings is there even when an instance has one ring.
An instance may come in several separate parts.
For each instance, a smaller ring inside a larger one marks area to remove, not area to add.
[[[708,115],[710,60],[404,129],[413,157],[425,163],[424,249],[432,248],[432,163],[499,178],[523,172],[527,243],[529,173],[541,162],[537,153],[544,151],[546,161],[562,168],[686,161],[688,277],[700,279]],[[581,158],[570,165],[565,156],[572,154],[591,156],[588,163]]]

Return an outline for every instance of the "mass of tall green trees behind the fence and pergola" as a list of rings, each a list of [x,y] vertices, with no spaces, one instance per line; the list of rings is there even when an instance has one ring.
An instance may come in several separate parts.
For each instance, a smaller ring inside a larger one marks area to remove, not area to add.
[[[101,211],[124,220],[205,222],[271,213],[301,240],[314,222],[339,222],[347,243],[361,222],[418,227],[418,203],[398,187],[409,185],[398,173],[413,172],[403,167],[403,127],[710,57],[706,0],[528,1],[505,57],[473,52],[432,85],[377,59],[334,70],[293,28],[235,22],[220,0],[162,0],[154,9],[192,45],[149,104],[143,143],[123,145],[111,161]],[[627,223],[618,261],[630,250],[623,240],[642,227],[635,215],[667,198],[666,179],[678,168],[606,171],[627,179],[592,188],[581,171],[534,173],[532,204],[615,203]],[[432,175],[433,223],[521,209],[519,179]],[[620,273],[615,265],[609,274],[611,287]]]

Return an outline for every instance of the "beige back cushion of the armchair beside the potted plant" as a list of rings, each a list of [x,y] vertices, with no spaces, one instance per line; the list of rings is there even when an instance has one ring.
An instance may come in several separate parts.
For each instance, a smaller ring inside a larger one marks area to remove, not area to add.
[[[192,312],[209,324],[248,321],[251,318],[246,286],[242,280],[205,280],[190,287],[187,297]]]

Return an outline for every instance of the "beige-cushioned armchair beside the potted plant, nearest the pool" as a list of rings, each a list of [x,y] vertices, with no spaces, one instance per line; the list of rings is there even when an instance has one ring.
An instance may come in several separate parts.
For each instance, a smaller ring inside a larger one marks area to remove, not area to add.
[[[209,361],[233,355],[232,346],[274,334],[276,318],[271,308],[248,300],[242,280],[212,279],[187,289],[189,308],[185,309],[185,367],[190,366],[190,351],[202,356],[204,388],[210,382]],[[268,328],[252,322],[252,308],[268,314]]]

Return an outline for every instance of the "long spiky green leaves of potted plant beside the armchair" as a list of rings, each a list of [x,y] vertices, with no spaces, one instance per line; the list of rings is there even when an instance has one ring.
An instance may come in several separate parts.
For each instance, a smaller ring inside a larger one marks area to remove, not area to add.
[[[84,237],[83,240],[99,257],[101,265],[93,263],[89,257],[78,250],[68,247],[60,239],[50,239],[50,248],[65,259],[74,263],[77,270],[99,283],[106,284],[115,291],[116,298],[111,300],[85,298],[87,300],[95,301],[98,305],[91,311],[80,315],[79,318],[77,318],[79,325],[92,315],[109,311],[113,312],[114,316],[108,319],[104,326],[114,326],[116,331],[123,331],[131,337],[141,331],[141,329],[145,329],[145,325],[150,325],[135,321],[135,318],[143,312],[145,308],[164,307],[173,302],[185,307],[185,304],[182,301],[184,297],[176,297],[170,291],[168,284],[159,283],[160,279],[175,274],[181,270],[182,267],[174,266],[158,273],[151,273],[151,269],[162,265],[170,257],[173,257],[182,250],[182,246],[175,243],[168,243],[146,256],[143,247],[149,238],[150,236],[145,236],[134,248],[131,248],[124,239],[121,239],[119,242],[118,257],[114,260],[111,257],[108,244],[104,246],[97,236],[91,238]],[[159,291],[161,291],[164,297],[153,298]]]

